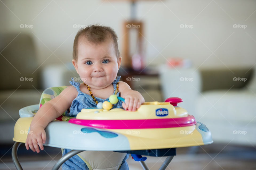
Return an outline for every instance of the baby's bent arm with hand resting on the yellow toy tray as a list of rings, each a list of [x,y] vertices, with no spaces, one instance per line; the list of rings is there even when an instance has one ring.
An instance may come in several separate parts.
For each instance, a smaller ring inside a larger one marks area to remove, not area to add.
[[[123,82],[119,82],[120,97],[125,98],[125,103],[122,104],[125,110],[136,111],[137,108],[141,106],[142,103],[145,102],[143,96],[135,90],[132,90],[130,86]]]

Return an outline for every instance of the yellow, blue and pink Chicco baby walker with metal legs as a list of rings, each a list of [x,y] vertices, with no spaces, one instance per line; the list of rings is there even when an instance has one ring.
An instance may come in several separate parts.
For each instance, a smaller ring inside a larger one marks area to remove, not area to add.
[[[42,98],[42,97],[41,97]],[[146,156],[167,156],[159,170],[166,169],[176,155],[177,147],[207,145],[213,143],[211,132],[201,122],[196,122],[184,108],[177,106],[181,98],[167,98],[165,102],[145,102],[137,111],[113,108],[112,104],[124,101],[111,95],[109,101],[98,104],[97,108],[82,109],[77,117],[61,116],[45,128],[45,146],[72,149],[52,168],[59,169],[72,156],[84,151],[115,151],[130,153],[139,161],[144,170]],[[29,126],[39,105],[19,110],[20,118],[14,127],[15,141],[12,159],[15,167],[22,170],[17,150],[25,143]],[[72,141],[72,145],[69,143]],[[121,145],[120,145],[121,144]]]

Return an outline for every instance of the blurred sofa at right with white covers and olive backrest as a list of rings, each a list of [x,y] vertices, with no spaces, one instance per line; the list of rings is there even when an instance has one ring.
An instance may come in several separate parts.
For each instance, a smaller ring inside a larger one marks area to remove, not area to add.
[[[185,108],[220,143],[256,145],[256,66],[253,68],[160,67],[164,98]]]

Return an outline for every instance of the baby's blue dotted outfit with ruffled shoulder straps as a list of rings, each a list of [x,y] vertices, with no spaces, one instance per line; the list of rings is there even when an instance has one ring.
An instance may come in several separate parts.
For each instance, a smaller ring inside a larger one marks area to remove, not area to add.
[[[113,81],[113,86],[114,86],[114,92],[113,94],[115,94],[115,90],[117,88],[116,83],[119,81],[121,76],[118,76],[116,80]],[[70,84],[73,85],[77,91],[78,91],[78,95],[77,97],[73,100],[71,107],[70,107],[70,112],[66,113],[66,116],[71,116],[71,117],[76,117],[76,115],[81,112],[82,108],[90,108],[90,107],[97,107],[95,101],[93,100],[93,98],[86,93],[83,93],[80,90],[80,83],[79,82],[75,82],[73,77],[71,78],[72,81],[70,81]],[[117,93],[117,96],[119,96],[119,93]],[[102,98],[98,98],[95,97],[95,99],[98,102],[104,102],[107,101],[109,98],[107,99],[102,99]],[[118,101],[116,104],[114,104],[113,108],[122,108],[122,101]],[[62,156],[64,156],[66,153],[68,153],[69,151],[71,151],[70,149],[62,149]],[[126,162],[126,159],[129,157],[129,154],[126,154],[125,158],[122,161],[122,164],[120,166],[120,170],[129,170],[128,164]],[[75,155],[73,157],[71,157],[70,159],[68,159],[66,162],[64,162],[62,164],[62,170],[89,170],[89,168],[87,167],[86,163],[78,156]]]

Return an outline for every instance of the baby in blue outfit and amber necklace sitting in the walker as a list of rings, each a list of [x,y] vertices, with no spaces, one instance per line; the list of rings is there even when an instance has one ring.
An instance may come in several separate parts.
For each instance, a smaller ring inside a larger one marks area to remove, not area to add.
[[[121,59],[117,35],[113,29],[92,25],[79,30],[74,40],[72,63],[83,83],[80,84],[72,79],[70,83],[73,86],[65,88],[57,97],[43,104],[30,124],[30,131],[33,133],[27,135],[26,149],[30,148],[38,153],[39,147],[43,150],[43,143],[46,141],[44,129],[69,108],[70,111],[66,116],[75,117],[82,108],[97,107],[98,103],[107,101],[112,94],[125,98],[125,102],[119,101],[113,105],[113,108],[123,107],[129,111],[139,108],[145,102],[142,95],[138,91],[131,90],[125,82],[119,81],[120,76],[117,77]],[[62,155],[69,151],[62,149]],[[126,162],[129,155],[108,151],[83,152],[67,160],[62,165],[62,170],[129,169]],[[105,161],[109,163],[90,164],[97,162],[100,156],[115,158]]]

